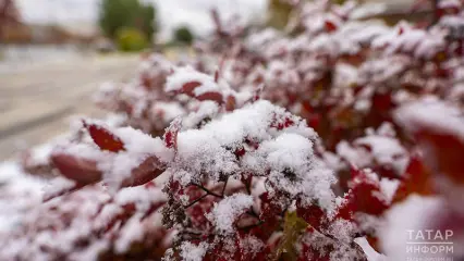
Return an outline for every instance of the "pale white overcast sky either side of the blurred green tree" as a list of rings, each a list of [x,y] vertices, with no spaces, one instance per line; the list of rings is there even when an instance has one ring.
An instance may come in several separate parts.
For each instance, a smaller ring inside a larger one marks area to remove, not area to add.
[[[259,20],[266,0],[144,0],[158,8],[161,38],[179,25],[190,25],[199,35],[212,28],[209,10],[223,16],[239,13],[244,20]],[[29,23],[59,23],[89,26],[98,16],[99,0],[16,0],[22,16]],[[78,22],[78,23],[77,23]]]

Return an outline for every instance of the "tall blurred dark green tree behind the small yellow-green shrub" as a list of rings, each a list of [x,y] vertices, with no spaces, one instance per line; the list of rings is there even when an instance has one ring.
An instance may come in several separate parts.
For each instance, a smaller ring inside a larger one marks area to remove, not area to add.
[[[141,30],[148,39],[156,32],[156,9],[139,0],[102,0],[99,24],[105,35],[111,39],[124,27]]]

